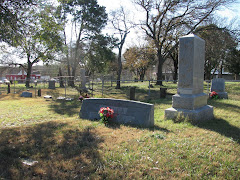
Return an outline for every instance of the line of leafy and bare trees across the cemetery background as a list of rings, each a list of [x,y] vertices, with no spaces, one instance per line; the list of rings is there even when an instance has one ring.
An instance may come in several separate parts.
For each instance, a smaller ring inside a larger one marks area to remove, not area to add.
[[[58,3],[2,0],[0,41],[15,47],[15,55],[26,59],[25,63],[2,61],[25,68],[27,87],[32,66],[40,61],[58,64],[58,74],[68,76],[68,85],[73,87],[77,69],[81,67],[91,76],[116,72],[117,80],[121,79],[124,67],[143,80],[153,65],[157,65],[157,84],[162,85],[162,68],[167,59],[173,62],[177,80],[179,37],[194,33],[206,41],[205,79],[211,79],[212,72],[224,67],[231,73],[240,73],[239,31],[210,21],[217,8],[234,0],[135,0],[134,3],[145,15],[139,22],[130,18],[126,7],[107,14],[97,0],[58,0]],[[113,30],[112,35],[102,33],[107,24]],[[139,27],[145,33],[144,43],[123,52],[128,34]],[[117,54],[114,48],[118,49]],[[120,81],[116,88],[121,88]]]

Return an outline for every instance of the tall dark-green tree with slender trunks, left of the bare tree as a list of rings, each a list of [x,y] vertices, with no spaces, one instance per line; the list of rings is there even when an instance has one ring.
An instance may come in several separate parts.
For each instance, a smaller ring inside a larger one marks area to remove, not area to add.
[[[72,41],[68,44],[66,32],[64,32],[65,45],[69,47],[66,50],[68,75],[71,76],[69,82],[71,86],[74,86],[76,69],[80,61],[83,61],[82,51],[84,42],[101,32],[107,22],[107,14],[105,7],[99,6],[96,0],[58,1],[60,2],[60,6],[58,7],[59,16],[62,22],[65,23],[65,26],[71,22],[74,25],[72,26],[74,27],[72,28],[72,32],[74,31],[76,34],[76,39],[72,38]],[[70,52],[71,49],[73,49],[73,52]]]

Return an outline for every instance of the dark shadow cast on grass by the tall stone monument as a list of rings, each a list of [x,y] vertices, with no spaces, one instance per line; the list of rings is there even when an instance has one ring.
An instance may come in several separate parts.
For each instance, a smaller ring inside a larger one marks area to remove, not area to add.
[[[197,126],[203,129],[215,131],[223,136],[233,139],[240,144],[240,129],[229,124],[224,119],[214,119],[209,122],[199,123]]]

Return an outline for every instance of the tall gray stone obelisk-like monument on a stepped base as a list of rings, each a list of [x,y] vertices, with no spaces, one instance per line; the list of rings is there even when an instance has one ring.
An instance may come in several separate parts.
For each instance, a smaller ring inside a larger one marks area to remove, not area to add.
[[[172,108],[165,110],[166,119],[179,113],[193,122],[213,119],[213,107],[207,105],[203,93],[205,41],[196,35],[180,38],[177,94],[172,97]]]

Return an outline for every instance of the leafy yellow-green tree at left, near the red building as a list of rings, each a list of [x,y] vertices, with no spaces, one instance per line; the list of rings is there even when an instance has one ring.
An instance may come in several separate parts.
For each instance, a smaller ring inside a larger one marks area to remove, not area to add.
[[[41,3],[22,9],[24,25],[8,41],[21,53],[22,58],[27,59],[26,64],[18,64],[27,70],[26,87],[29,87],[32,66],[39,61],[53,60],[55,53],[61,50],[62,25],[57,23],[53,12],[52,6]]]

